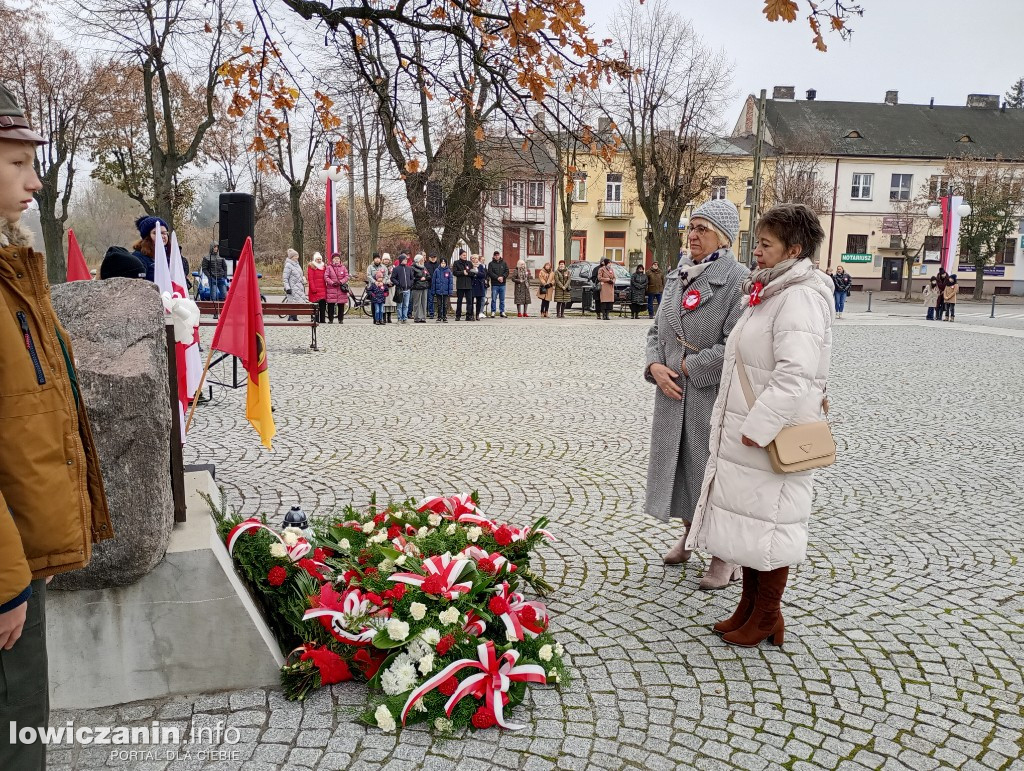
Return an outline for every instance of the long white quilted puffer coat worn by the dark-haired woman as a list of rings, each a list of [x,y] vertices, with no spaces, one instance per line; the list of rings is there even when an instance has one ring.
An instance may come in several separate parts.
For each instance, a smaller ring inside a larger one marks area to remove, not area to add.
[[[785,426],[823,419],[833,312],[831,279],[801,260],[765,287],[762,302],[736,323],[687,549],[757,570],[804,560],[814,472],[776,474],[768,454],[745,446],[741,437],[764,447]],[[753,410],[736,373],[737,346],[756,397]]]

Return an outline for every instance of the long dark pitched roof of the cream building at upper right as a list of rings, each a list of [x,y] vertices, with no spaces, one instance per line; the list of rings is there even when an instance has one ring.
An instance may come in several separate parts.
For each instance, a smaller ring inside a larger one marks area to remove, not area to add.
[[[766,119],[772,143],[797,152],[1024,160],[1024,110],[769,99]]]

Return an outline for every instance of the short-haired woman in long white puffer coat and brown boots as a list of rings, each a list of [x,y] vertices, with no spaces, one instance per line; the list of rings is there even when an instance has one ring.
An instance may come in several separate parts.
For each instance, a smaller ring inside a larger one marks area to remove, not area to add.
[[[744,283],[748,307],[726,345],[711,458],[686,545],[742,566],[739,605],[715,631],[743,647],[769,637],[782,644],[782,592],[790,566],[806,556],[813,496],[813,471],[775,473],[764,447],[786,426],[823,420],[833,345],[834,285],[812,262],[824,239],[817,216],[799,204],[774,207],[757,237],[758,269]]]

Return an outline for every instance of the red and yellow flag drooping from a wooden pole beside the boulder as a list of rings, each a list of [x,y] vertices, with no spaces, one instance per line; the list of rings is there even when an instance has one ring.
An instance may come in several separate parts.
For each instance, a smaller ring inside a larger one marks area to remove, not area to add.
[[[252,239],[246,239],[246,246],[239,257],[231,288],[220,311],[220,320],[213,333],[210,347],[242,360],[242,367],[249,374],[246,418],[256,429],[263,446],[271,449],[270,440],[278,430],[270,411],[270,374],[266,363],[263,305],[259,297]]]

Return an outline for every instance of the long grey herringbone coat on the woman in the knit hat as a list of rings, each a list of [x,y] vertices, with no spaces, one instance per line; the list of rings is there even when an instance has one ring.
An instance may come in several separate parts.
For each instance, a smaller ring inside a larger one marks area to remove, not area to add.
[[[647,333],[644,373],[653,383],[649,374],[652,363],[679,372],[685,355],[689,378],[682,379],[681,401],[654,389],[646,508],[659,519],[693,518],[708,466],[711,413],[718,397],[725,341],[743,310],[740,285],[748,272],[732,252],[725,251],[685,293],[680,288],[679,269],[666,276],[662,304]],[[700,304],[687,311],[682,301],[691,290],[700,293]]]

